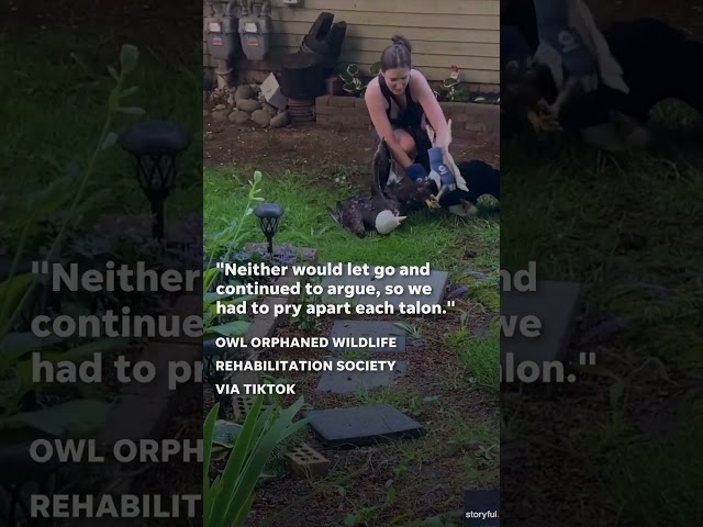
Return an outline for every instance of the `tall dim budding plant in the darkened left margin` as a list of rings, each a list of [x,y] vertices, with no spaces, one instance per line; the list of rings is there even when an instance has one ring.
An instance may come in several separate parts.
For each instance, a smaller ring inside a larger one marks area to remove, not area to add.
[[[138,57],[138,49],[125,44],[120,53],[120,71],[112,66],[108,67],[115,83],[109,94],[101,132],[85,169],[81,169],[77,160],[69,162],[64,175],[31,194],[22,215],[13,217],[14,222],[8,224],[10,231],[16,234],[18,247],[8,278],[0,283],[0,393],[5,401],[0,408],[2,429],[35,429],[57,436],[86,433],[101,426],[108,413],[109,403],[94,399],[72,400],[51,406],[40,401],[45,384],[32,379],[31,360],[26,358],[30,354],[38,351],[42,360],[54,365],[59,361],[74,362],[94,352],[123,346],[123,341],[102,339],[75,346],[71,339],[41,339],[27,332],[22,327],[22,317],[27,311],[32,311],[33,304],[41,298],[44,279],[29,272],[20,273],[19,269],[34,235],[52,217],[58,218],[55,222],[57,227],[42,259],[56,261],[68,233],[80,228],[85,216],[99,208],[100,199],[109,191],[103,189],[96,193],[91,183],[100,156],[116,143],[118,135],[112,131],[116,116],[145,113],[141,108],[123,104],[124,99],[137,90],[137,87],[125,85],[137,66]]]

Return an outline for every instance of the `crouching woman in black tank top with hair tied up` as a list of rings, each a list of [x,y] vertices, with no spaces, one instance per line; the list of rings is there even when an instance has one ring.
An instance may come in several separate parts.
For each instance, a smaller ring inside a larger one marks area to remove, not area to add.
[[[375,141],[386,139],[393,158],[409,177],[425,178],[431,170],[439,172],[442,165],[435,156],[431,161],[427,154],[432,144],[425,132],[426,122],[442,136],[447,120],[427,79],[412,69],[408,40],[394,35],[392,41],[381,55],[381,72],[366,89],[366,108]]]

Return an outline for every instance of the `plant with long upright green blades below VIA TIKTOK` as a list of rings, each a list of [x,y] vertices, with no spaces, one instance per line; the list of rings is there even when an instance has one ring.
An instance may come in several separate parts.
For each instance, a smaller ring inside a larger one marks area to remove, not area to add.
[[[252,509],[255,489],[276,447],[308,425],[308,419],[293,423],[303,406],[300,397],[288,408],[269,406],[261,410],[264,395],[257,396],[244,419],[224,470],[211,479],[213,439],[219,412],[215,404],[205,418],[203,429],[203,526],[242,527]]]

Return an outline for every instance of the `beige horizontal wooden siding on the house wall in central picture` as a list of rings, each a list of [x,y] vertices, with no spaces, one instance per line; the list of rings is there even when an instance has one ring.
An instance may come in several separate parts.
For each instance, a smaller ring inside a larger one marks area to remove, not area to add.
[[[357,63],[367,72],[398,33],[411,42],[414,66],[432,81],[446,78],[456,65],[465,82],[500,82],[500,0],[301,0],[298,7],[272,0],[268,60],[297,52],[323,11],[347,23],[342,64]],[[208,56],[205,63],[214,66]]]

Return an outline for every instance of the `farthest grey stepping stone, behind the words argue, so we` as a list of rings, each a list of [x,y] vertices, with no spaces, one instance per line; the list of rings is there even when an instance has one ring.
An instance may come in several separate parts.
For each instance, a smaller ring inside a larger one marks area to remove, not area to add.
[[[447,281],[449,280],[449,273],[447,271],[429,271],[428,277],[399,277],[399,268],[395,268],[395,273],[392,277],[383,277],[381,279],[375,279],[375,269],[378,266],[369,266],[368,277],[350,277],[346,274],[346,266],[345,274],[342,277],[325,277],[321,281],[321,285],[324,288],[324,294],[322,295],[323,303],[336,303],[343,302],[348,299],[345,299],[342,295],[328,295],[327,294],[327,285],[376,285],[376,289],[381,292],[378,295],[371,294],[361,294],[354,298],[357,304],[370,304],[370,305],[383,305],[383,302],[388,301],[389,304],[398,307],[401,302],[414,303],[421,302],[423,304],[439,304],[442,299],[444,298],[444,291],[447,287]],[[399,295],[389,295],[386,294],[387,285],[402,285],[404,289],[403,294]],[[408,289],[409,285],[431,285],[432,293],[431,294],[410,294]]]

